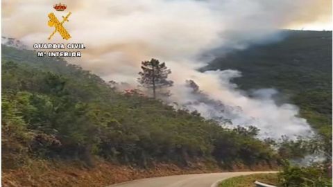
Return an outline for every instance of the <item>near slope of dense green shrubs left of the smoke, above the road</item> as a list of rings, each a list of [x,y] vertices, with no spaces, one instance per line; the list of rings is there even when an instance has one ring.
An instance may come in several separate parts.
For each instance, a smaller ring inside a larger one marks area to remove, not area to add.
[[[62,59],[2,46],[3,169],[28,159],[100,157],[148,167],[209,160],[231,168],[275,161],[268,143],[146,98],[118,93],[97,75]]]

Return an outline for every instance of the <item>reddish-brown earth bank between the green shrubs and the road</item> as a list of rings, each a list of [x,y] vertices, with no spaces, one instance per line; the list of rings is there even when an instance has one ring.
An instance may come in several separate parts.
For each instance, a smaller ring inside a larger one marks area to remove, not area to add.
[[[264,165],[257,165],[253,170],[267,170]],[[249,170],[246,166],[234,166],[234,170]],[[180,168],[173,163],[158,163],[144,169],[124,166],[105,161],[98,161],[94,168],[87,168],[80,161],[31,161],[26,166],[8,170],[2,173],[3,187],[16,186],[108,186],[109,184],[142,179],[146,177],[161,177],[204,172],[223,172],[214,163],[190,163],[188,167]]]

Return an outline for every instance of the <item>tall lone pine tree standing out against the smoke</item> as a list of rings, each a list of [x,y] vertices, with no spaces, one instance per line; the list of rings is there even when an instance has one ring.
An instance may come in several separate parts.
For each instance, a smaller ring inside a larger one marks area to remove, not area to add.
[[[165,66],[165,63],[160,63],[156,59],[151,61],[142,62],[142,71],[139,72],[140,78],[138,82],[142,84],[142,87],[153,89],[153,97],[156,98],[156,90],[163,87],[172,87],[173,81],[167,80],[171,70]]]

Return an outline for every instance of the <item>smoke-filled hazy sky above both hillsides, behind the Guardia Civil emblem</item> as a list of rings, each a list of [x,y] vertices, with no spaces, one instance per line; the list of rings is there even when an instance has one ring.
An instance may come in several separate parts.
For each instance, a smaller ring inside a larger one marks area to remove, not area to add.
[[[245,48],[276,37],[278,28],[332,29],[331,0],[3,0],[2,35],[35,43],[84,43],[83,58],[69,60],[105,79],[135,82],[142,60],[202,66],[196,57],[219,46]],[[71,34],[47,38],[49,12],[71,12]],[[187,63],[191,62],[191,63]],[[121,66],[119,66],[121,64]],[[175,66],[176,66],[175,65]]]

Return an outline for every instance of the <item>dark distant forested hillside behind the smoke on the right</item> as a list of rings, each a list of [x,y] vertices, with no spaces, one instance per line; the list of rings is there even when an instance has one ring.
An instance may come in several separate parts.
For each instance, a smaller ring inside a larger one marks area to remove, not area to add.
[[[237,69],[233,81],[251,89],[275,88],[277,101],[296,104],[301,116],[332,142],[332,31],[284,31],[280,42],[219,55],[202,71]],[[331,145],[329,143],[328,145]]]

